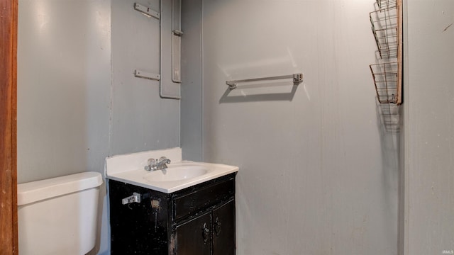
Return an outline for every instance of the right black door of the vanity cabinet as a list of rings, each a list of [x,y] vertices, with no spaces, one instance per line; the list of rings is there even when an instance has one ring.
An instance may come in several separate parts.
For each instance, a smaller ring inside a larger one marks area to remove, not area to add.
[[[213,254],[235,254],[235,200],[213,211]]]

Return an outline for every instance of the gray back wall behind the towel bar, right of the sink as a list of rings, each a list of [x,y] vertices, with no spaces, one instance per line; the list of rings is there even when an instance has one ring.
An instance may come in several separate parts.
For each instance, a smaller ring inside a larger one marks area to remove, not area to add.
[[[374,1],[201,2],[183,44],[202,49],[185,63],[202,91],[182,97],[201,101],[187,114],[202,145],[182,130],[182,146],[240,166],[238,254],[397,254],[398,137],[382,131],[368,69]],[[298,87],[225,84],[294,72]]]

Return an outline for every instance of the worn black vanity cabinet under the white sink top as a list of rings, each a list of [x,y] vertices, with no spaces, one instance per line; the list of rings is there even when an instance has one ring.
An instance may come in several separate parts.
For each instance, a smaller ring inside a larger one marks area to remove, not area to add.
[[[235,176],[174,193],[109,180],[111,254],[235,254]]]

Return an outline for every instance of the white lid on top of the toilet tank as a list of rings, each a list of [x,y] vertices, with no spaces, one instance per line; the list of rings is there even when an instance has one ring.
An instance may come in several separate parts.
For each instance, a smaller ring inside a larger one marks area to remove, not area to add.
[[[101,184],[101,174],[93,171],[21,183],[17,186],[17,204],[26,205],[48,198],[55,198],[65,194],[99,187]]]

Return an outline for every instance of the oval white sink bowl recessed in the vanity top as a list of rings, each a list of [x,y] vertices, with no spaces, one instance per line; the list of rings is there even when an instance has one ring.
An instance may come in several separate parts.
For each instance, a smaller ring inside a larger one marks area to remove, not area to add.
[[[208,173],[209,168],[200,164],[169,164],[167,169],[155,170],[143,176],[145,181],[180,181]]]

